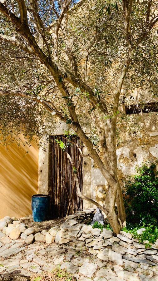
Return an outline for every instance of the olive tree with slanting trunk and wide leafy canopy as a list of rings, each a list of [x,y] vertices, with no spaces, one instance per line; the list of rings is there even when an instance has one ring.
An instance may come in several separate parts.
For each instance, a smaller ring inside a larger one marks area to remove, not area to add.
[[[44,121],[65,122],[108,183],[101,206],[81,194],[75,173],[78,196],[104,211],[118,234],[126,224],[116,157],[121,90],[156,91],[156,1],[1,0],[0,12],[1,127],[24,123],[29,134],[30,122],[40,135]],[[103,157],[83,129],[91,124]]]

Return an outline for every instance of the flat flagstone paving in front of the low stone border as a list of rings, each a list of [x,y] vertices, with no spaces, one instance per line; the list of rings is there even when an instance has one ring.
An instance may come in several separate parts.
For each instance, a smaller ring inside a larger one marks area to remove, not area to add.
[[[25,276],[40,275],[59,266],[66,269],[79,281],[158,281],[158,266],[136,264],[126,260],[118,265],[108,258],[100,260],[82,248],[69,245],[35,241],[26,245],[22,239],[11,240],[0,232],[0,276],[19,273]]]

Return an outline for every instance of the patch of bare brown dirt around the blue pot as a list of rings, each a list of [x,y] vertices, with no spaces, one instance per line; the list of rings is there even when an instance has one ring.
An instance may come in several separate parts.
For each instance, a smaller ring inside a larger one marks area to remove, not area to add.
[[[20,218],[19,220],[21,221],[21,223],[27,225],[27,228],[28,227],[37,227],[40,231],[42,231],[43,229],[49,230],[51,227],[53,227],[55,225],[60,226],[62,223],[64,223],[66,218],[55,218],[52,220],[35,222],[35,221],[33,221],[32,215],[29,215],[29,216]]]

